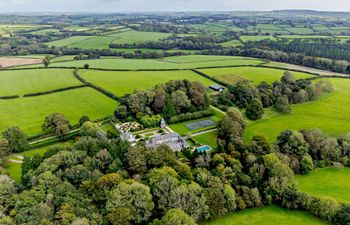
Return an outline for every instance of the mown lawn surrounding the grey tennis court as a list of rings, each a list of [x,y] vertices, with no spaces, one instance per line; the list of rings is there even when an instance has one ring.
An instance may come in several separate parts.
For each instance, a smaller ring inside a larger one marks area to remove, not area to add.
[[[207,120],[207,119],[212,119],[215,122],[219,122],[220,120],[222,120],[223,117],[224,117],[223,113],[215,110],[215,115],[213,115],[211,117],[200,118],[200,119],[196,119],[196,120],[190,120],[190,121],[185,121],[185,122],[181,122],[181,123],[170,124],[169,127],[182,136],[187,135],[189,132],[191,132],[192,134],[195,134],[195,133],[198,133],[201,131],[213,129],[216,127],[216,125],[213,125],[210,127],[203,127],[203,128],[199,128],[196,130],[190,130],[186,127],[187,124],[202,121],[202,120]]]

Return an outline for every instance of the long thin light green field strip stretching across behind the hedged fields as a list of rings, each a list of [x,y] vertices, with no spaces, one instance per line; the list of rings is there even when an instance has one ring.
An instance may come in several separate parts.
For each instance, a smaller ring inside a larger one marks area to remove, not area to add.
[[[200,67],[260,65],[262,60],[234,57],[234,56],[176,56],[164,59],[124,59],[118,57],[104,57],[95,60],[76,60],[69,62],[52,63],[55,67],[83,67],[89,64],[90,68],[124,69],[124,70],[152,70],[152,69],[194,69]],[[38,65],[35,65],[36,67]],[[18,68],[33,68],[34,66],[20,66]]]

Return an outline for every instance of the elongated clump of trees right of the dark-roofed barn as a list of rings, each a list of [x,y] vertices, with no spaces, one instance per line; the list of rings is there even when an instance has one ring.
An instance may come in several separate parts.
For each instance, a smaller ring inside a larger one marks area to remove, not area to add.
[[[251,120],[260,119],[263,108],[273,106],[280,113],[290,113],[290,104],[316,100],[324,92],[332,92],[333,86],[327,80],[312,83],[308,79],[295,80],[291,72],[285,72],[280,81],[266,82],[254,86],[249,81],[239,81],[229,86],[217,97],[216,104],[238,106],[246,109]]]

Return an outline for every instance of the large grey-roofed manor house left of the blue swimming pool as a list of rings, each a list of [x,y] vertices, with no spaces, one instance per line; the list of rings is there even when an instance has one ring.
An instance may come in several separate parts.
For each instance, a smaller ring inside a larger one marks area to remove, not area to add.
[[[146,147],[149,148],[156,148],[162,144],[168,145],[174,151],[181,151],[190,147],[178,133],[162,134],[146,141]]]

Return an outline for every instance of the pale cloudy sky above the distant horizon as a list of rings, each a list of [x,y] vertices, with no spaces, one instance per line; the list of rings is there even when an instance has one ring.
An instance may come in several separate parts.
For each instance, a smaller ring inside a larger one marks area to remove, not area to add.
[[[4,12],[350,11],[350,0],[0,0]]]

